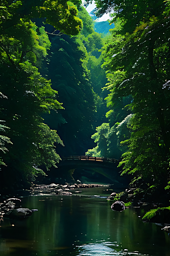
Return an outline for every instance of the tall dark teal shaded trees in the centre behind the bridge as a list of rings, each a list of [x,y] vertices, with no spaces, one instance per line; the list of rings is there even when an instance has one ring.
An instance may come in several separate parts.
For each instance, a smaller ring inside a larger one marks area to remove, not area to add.
[[[51,129],[57,129],[65,148],[61,155],[84,154],[94,123],[95,93],[86,67],[86,48],[76,38],[50,36],[52,53],[49,77],[65,110],[44,116]]]

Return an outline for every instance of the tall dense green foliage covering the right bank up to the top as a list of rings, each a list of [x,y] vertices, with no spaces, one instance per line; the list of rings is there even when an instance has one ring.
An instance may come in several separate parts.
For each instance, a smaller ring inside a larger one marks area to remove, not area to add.
[[[114,11],[112,38],[103,48],[109,117],[128,97],[130,138],[121,165],[148,187],[169,182],[169,1],[96,0],[96,15]],[[88,1],[87,1],[88,3]],[[125,105],[124,105],[125,106]],[[119,111],[118,111],[119,112]],[[167,187],[168,188],[168,187]]]

